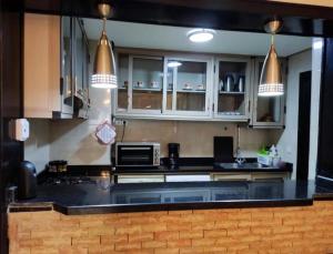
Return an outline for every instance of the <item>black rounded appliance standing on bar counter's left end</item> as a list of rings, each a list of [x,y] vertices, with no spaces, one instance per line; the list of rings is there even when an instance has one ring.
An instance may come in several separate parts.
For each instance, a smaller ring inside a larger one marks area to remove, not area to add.
[[[19,199],[27,200],[37,195],[37,173],[34,165],[29,161],[22,161],[18,170]]]

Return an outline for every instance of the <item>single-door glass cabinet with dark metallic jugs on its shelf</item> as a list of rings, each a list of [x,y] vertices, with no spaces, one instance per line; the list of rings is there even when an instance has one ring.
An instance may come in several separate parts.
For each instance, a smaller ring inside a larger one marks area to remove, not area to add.
[[[214,118],[229,121],[248,121],[250,85],[250,58],[216,59]]]

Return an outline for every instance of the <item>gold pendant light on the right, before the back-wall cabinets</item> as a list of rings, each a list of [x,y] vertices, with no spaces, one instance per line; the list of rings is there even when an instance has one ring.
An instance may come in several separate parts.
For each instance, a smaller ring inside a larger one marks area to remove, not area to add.
[[[269,21],[264,27],[272,34],[272,41],[260,75],[259,96],[280,96],[284,93],[281,64],[274,45],[274,35],[281,28],[282,21],[278,19]]]

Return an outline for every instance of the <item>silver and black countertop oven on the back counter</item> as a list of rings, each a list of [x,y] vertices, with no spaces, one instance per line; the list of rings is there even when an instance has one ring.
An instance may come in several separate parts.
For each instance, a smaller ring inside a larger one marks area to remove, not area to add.
[[[158,166],[160,165],[160,143],[118,142],[115,143],[117,166]]]

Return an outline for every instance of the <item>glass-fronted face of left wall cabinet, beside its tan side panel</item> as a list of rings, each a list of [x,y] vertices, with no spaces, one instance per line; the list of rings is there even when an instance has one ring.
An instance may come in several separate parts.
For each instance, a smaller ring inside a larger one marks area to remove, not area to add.
[[[82,19],[61,18],[61,112],[56,118],[88,118],[89,43]]]

